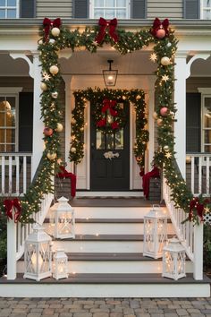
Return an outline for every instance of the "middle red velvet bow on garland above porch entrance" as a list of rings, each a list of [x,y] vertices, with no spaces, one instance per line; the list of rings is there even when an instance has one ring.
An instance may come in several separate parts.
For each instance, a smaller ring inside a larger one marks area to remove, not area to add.
[[[114,18],[111,21],[106,21],[104,18],[100,18],[98,21],[98,25],[100,26],[99,33],[97,35],[96,41],[97,43],[101,43],[105,37],[105,30],[108,28],[108,33],[114,42],[118,41],[118,35],[115,32],[117,26],[117,20]]]

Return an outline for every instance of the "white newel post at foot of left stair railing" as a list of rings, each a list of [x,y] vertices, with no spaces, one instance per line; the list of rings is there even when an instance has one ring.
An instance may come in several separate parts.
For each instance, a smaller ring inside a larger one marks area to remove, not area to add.
[[[16,278],[16,226],[12,219],[7,221],[7,279]]]

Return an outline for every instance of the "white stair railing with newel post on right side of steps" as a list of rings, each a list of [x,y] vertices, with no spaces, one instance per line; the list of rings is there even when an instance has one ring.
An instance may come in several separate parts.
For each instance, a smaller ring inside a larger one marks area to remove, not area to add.
[[[190,261],[193,262],[193,276],[195,279],[203,279],[203,225],[193,226],[190,221],[181,224],[188,215],[184,210],[174,207],[174,202],[171,198],[171,188],[166,183],[165,178],[163,180],[163,198],[169,211],[175,234],[185,248]]]

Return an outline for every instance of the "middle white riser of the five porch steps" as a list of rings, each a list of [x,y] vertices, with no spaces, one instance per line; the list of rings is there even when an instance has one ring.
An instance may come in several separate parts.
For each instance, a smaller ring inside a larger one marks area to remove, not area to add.
[[[143,241],[54,241],[65,253],[143,253]]]

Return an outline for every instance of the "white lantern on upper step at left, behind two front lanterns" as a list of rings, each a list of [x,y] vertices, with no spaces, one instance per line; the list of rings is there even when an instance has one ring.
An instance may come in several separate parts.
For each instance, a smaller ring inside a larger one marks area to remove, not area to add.
[[[75,237],[74,227],[74,210],[68,203],[68,199],[61,197],[58,202],[51,208],[55,213],[55,234],[56,238],[65,239]]]

